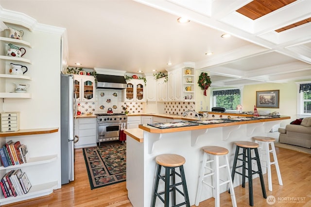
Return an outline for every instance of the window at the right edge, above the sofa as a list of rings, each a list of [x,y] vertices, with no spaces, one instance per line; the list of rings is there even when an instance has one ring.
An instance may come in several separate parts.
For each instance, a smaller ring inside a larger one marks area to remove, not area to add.
[[[297,114],[311,115],[311,82],[296,83],[297,93]]]

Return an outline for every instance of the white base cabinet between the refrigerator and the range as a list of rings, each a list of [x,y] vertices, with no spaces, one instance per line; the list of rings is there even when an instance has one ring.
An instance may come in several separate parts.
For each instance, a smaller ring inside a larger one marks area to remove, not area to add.
[[[74,143],[74,148],[97,146],[96,118],[76,119],[75,135],[79,137],[79,140]]]

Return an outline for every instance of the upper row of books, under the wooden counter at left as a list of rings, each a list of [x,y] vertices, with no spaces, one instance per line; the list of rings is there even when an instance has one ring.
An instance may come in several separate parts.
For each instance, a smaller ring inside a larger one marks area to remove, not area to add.
[[[0,158],[3,167],[26,163],[29,159],[27,146],[10,140],[0,148]]]

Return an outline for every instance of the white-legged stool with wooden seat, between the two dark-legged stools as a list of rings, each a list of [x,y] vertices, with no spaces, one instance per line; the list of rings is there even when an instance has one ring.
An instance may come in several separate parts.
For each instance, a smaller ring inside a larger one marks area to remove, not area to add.
[[[195,206],[199,206],[201,191],[202,191],[202,184],[204,183],[207,186],[211,187],[213,190],[215,190],[214,191],[215,207],[220,207],[220,186],[229,183],[229,189],[231,190],[232,206],[236,207],[237,201],[236,201],[235,194],[234,194],[233,182],[232,182],[231,174],[230,174],[230,166],[229,166],[229,161],[227,157],[227,154],[229,153],[229,151],[224,147],[218,147],[218,146],[205,146],[202,149],[204,151],[204,155],[203,155],[203,160],[202,160],[201,173],[200,173],[199,181],[198,181],[198,189],[196,193]],[[210,156],[209,160],[207,160],[208,155]],[[221,166],[219,165],[220,156],[225,156],[225,165],[221,165]],[[210,167],[207,167],[207,163],[210,164]],[[219,176],[219,170],[221,168],[226,168],[227,180],[225,181],[221,180]],[[210,173],[206,174],[206,171],[205,171],[206,169],[209,170]],[[204,178],[208,176],[212,176],[212,175],[214,175],[213,176],[214,186],[204,181]],[[222,183],[220,183],[220,181],[222,181]]]

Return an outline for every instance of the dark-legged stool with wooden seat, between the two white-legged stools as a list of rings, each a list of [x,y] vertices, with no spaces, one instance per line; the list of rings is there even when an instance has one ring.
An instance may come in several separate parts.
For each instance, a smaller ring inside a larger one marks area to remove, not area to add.
[[[249,205],[254,206],[253,200],[253,174],[259,174],[262,196],[267,198],[266,189],[264,187],[263,176],[260,166],[259,154],[258,154],[258,147],[259,144],[252,142],[252,141],[236,141],[234,144],[237,146],[235,155],[234,155],[234,162],[232,168],[232,182],[234,181],[235,173],[242,175],[242,188],[245,188],[245,177],[248,178],[248,193],[249,193]],[[240,148],[242,148],[242,153],[239,154]],[[255,157],[252,157],[251,150],[255,151]],[[242,159],[239,156],[242,155]],[[252,159],[256,160],[258,171],[252,170]],[[238,160],[242,161],[242,165],[237,166]],[[247,165],[247,166],[246,166]],[[237,168],[242,167],[242,173],[237,172]],[[247,175],[245,171],[247,170]]]

